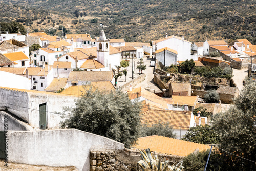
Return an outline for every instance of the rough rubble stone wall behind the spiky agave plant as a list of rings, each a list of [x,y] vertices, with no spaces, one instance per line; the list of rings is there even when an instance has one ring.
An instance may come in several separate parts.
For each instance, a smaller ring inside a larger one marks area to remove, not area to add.
[[[180,162],[183,157],[157,154],[160,160]],[[130,149],[111,151],[90,151],[90,170],[136,170],[137,162],[141,160],[140,152]]]

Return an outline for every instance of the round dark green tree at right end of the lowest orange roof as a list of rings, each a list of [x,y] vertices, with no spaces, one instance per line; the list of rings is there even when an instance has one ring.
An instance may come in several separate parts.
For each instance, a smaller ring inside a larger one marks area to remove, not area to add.
[[[218,144],[220,137],[215,132],[212,126],[195,126],[191,127],[184,135],[182,140],[195,142],[199,144]]]

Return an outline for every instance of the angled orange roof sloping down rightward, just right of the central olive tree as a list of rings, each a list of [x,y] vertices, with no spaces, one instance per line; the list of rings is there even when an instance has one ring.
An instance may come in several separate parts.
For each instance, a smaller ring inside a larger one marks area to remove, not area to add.
[[[160,104],[162,109],[168,109],[167,103],[162,97],[159,97],[142,87],[134,88],[132,91],[128,92],[128,95],[131,100],[136,99],[137,97],[143,97],[148,101],[156,103],[155,105]]]

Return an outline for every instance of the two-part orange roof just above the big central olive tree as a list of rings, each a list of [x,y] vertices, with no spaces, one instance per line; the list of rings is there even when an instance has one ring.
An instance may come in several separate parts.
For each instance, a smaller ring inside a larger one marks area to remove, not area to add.
[[[113,86],[113,84],[110,81],[95,81],[90,83],[93,89],[98,89],[99,91],[111,91],[116,90],[116,88]],[[66,95],[76,95],[76,96],[82,96],[82,94],[89,90],[90,86],[70,86],[67,89],[63,90],[61,94]]]

